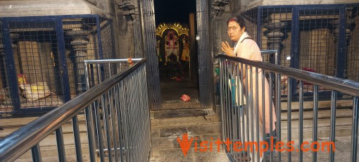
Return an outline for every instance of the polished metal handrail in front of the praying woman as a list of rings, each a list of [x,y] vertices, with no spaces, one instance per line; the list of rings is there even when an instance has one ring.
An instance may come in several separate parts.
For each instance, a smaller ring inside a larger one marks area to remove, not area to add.
[[[225,54],[218,54],[216,58],[225,58],[231,61],[237,61],[245,63],[249,66],[255,66],[267,71],[287,75],[288,77],[311,82],[315,85],[330,87],[339,92],[351,94],[353,96],[359,96],[359,83],[353,80],[346,80],[339,77],[332,77],[328,75],[322,75],[320,73],[313,73],[306,70],[300,70],[296,68],[289,68],[286,66],[279,66],[273,63],[265,63],[262,61],[251,61],[245,58],[231,57]]]

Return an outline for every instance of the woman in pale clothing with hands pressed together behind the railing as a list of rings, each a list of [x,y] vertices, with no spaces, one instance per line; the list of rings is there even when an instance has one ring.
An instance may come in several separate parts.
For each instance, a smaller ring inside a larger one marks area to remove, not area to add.
[[[229,36],[229,38],[233,41],[236,42],[236,45],[234,48],[232,48],[231,46],[229,46],[228,42],[222,42],[222,51],[225,52],[225,54],[227,54],[228,56],[234,56],[234,57],[239,57],[239,58],[246,58],[248,60],[251,61],[262,61],[262,56],[260,54],[260,49],[258,47],[258,45],[256,44],[256,42],[253,41],[253,39],[251,39],[251,37],[248,35],[248,33],[246,32],[246,24],[244,22],[244,19],[241,18],[241,16],[235,16],[233,18],[229,18],[229,20],[227,21],[227,25],[228,25],[228,30],[227,30],[227,34]],[[277,121],[277,118],[275,116],[275,106],[273,105],[273,103],[270,103],[270,94],[269,94],[269,84],[267,82],[267,80],[264,78],[264,88],[265,88],[265,92],[263,93],[261,91],[261,89],[263,88],[263,71],[261,69],[258,69],[258,75],[256,75],[256,68],[248,68],[247,72],[243,72],[241,69],[239,69],[241,71],[241,75],[243,75],[243,84],[244,84],[244,88],[247,87],[247,82],[250,82],[250,77],[247,77],[246,75],[250,74],[250,70],[252,70],[252,82],[251,84],[249,84],[248,89],[244,89],[244,91],[248,91],[248,92],[253,92],[252,99],[253,99],[253,107],[249,107],[249,108],[255,108],[254,105],[258,104],[258,113],[259,116],[258,118],[256,117],[256,114],[254,113],[254,116],[251,117],[250,114],[248,113],[248,118],[253,118],[253,123],[246,123],[245,125],[249,126],[249,137],[252,137],[251,135],[251,129],[253,129],[253,139],[256,140],[256,123],[257,120],[259,121],[259,125],[260,125],[260,141],[264,142],[263,140],[263,134],[262,134],[262,130],[263,130],[263,112],[262,112],[262,108],[263,106],[265,106],[265,133],[270,133],[270,105],[272,104],[272,130],[275,130],[275,122]],[[255,100],[255,96],[256,96],[256,77],[258,76],[258,101]],[[252,90],[253,89],[253,90]],[[265,96],[265,101],[263,105],[263,96]],[[248,99],[248,96],[246,96]],[[248,100],[247,100],[248,101]],[[248,104],[247,104],[248,105]],[[250,110],[248,108],[248,110]],[[256,112],[257,110],[253,111]],[[250,111],[248,111],[250,112]],[[245,128],[246,129],[246,128]],[[247,136],[247,135],[245,135]],[[247,137],[246,137],[247,139]],[[251,140],[251,138],[249,138]],[[256,154],[256,153],[255,153]],[[253,155],[251,154],[251,159],[253,159]],[[261,157],[259,159],[259,161],[262,161],[263,158]],[[258,161],[258,160],[254,160],[254,161]]]

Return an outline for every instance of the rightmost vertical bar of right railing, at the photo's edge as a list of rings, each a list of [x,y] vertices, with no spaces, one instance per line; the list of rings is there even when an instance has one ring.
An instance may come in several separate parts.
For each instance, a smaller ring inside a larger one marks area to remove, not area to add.
[[[359,98],[353,99],[353,120],[351,123],[351,161],[357,161],[358,154],[358,123],[359,123]]]

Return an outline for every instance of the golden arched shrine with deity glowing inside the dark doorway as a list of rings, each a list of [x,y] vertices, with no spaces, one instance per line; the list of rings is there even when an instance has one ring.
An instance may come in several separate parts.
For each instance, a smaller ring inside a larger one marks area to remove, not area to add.
[[[156,29],[156,42],[160,78],[191,78],[189,29],[180,23],[162,23]]]

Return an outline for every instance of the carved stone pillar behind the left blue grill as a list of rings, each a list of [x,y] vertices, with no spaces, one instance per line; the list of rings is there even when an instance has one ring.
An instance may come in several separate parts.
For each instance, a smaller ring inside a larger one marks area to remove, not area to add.
[[[91,31],[87,30],[69,30],[67,31],[68,36],[72,38],[70,44],[73,46],[75,51],[75,82],[77,83],[77,93],[86,91],[86,78],[84,75],[84,60],[87,57],[87,36]],[[99,49],[101,50],[101,49]]]

